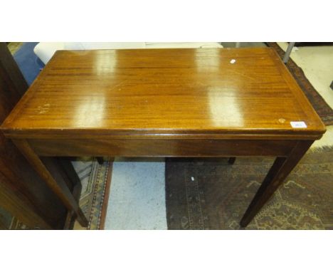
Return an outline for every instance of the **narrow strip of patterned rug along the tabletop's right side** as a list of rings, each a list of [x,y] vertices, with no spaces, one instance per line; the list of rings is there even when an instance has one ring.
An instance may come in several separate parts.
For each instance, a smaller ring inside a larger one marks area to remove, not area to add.
[[[277,45],[277,43],[266,43],[267,46],[272,47],[277,51],[280,58],[285,56],[285,51]],[[316,110],[317,114],[322,118],[322,122],[325,125],[333,125],[333,110],[329,105],[325,102],[324,98],[314,89],[310,81],[305,77],[305,74],[299,66],[292,61],[292,58],[289,58],[289,61],[286,63],[287,68],[290,70],[290,73],[294,76],[300,88],[303,90],[307,99],[312,104],[314,110]]]

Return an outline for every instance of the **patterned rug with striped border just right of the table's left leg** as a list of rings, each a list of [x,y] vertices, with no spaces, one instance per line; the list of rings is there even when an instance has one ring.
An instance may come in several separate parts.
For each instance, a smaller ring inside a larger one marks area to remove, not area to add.
[[[73,162],[73,166],[82,184],[80,207],[89,220],[87,228],[83,228],[75,221],[73,229],[104,229],[112,162],[105,161],[100,165],[95,160],[82,158],[82,160]],[[29,229],[8,212],[5,214],[0,211],[1,214],[6,217],[2,221],[9,222],[8,226],[2,226],[3,229]]]

